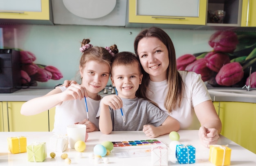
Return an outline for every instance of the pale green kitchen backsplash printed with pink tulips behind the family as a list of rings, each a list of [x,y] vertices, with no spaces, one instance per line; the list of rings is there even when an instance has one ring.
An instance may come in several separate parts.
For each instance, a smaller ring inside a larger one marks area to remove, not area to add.
[[[20,50],[22,83],[54,87],[78,81],[81,41],[94,46],[116,44],[131,51],[143,28],[79,25],[1,25],[0,48]],[[207,87],[256,87],[256,32],[167,29],[175,46],[177,69],[202,75]],[[108,85],[111,85],[109,80]]]

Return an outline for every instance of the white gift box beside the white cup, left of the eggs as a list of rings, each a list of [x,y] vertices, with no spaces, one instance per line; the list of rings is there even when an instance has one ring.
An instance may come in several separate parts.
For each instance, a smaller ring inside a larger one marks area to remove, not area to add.
[[[64,152],[67,150],[68,136],[54,134],[50,137],[50,149],[56,152]]]

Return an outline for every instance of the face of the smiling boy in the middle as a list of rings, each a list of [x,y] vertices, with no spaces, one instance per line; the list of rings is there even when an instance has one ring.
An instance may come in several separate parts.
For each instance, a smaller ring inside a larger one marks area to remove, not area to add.
[[[112,85],[117,88],[118,96],[122,98],[135,98],[135,93],[142,80],[142,74],[139,72],[139,66],[135,63],[119,65],[112,68]]]

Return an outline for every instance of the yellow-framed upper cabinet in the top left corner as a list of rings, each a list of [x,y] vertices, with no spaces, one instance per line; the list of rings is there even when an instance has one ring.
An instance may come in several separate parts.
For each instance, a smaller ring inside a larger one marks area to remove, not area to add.
[[[51,0],[0,0],[2,24],[53,25]]]

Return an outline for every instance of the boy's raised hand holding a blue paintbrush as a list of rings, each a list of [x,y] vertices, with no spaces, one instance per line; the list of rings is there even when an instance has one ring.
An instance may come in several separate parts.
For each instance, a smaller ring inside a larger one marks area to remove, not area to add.
[[[117,96],[117,95],[108,95],[108,96],[104,96],[101,99],[101,102],[104,105],[108,105],[110,106],[112,109],[116,110],[116,109],[120,109],[121,107],[123,107],[123,101],[122,99]]]

